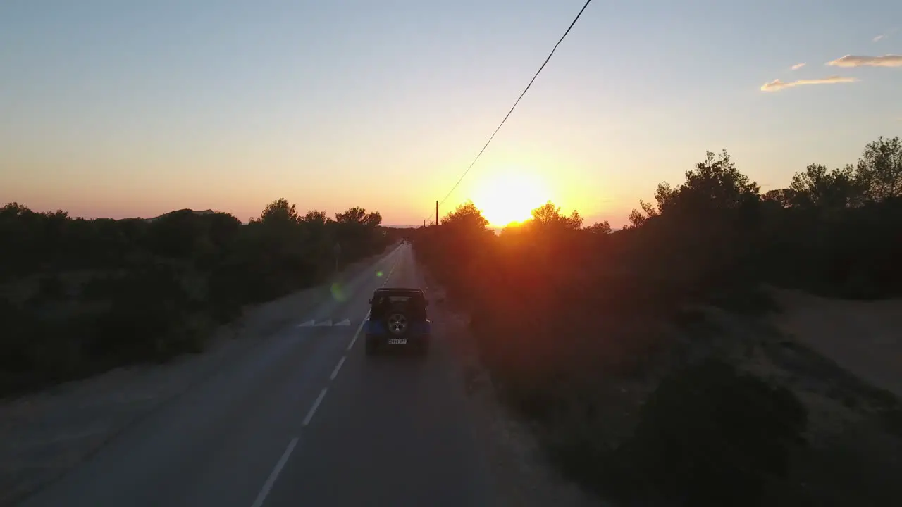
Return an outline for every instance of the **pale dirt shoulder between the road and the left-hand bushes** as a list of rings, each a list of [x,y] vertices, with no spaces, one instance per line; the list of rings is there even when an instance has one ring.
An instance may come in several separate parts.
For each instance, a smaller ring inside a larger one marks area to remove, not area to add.
[[[338,281],[353,279],[385,253],[347,266]],[[0,401],[0,506],[52,482],[166,402],[240,362],[262,338],[323,300],[331,283],[245,308],[242,318],[216,329],[202,354],[116,368]]]

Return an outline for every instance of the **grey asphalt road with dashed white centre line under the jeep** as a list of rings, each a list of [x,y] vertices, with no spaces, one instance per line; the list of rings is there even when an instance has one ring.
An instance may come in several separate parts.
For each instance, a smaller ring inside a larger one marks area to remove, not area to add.
[[[364,355],[383,284],[423,287],[410,246],[23,505],[495,504],[441,322],[427,357]]]

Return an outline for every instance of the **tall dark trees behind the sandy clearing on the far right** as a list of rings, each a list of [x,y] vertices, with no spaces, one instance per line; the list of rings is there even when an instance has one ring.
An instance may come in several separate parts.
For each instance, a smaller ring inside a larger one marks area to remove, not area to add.
[[[658,185],[630,226],[639,244],[667,237],[661,261],[721,281],[769,281],[847,298],[902,295],[902,143],[879,138],[857,164],[811,164],[787,189],[759,194],[729,155],[708,153],[677,188]],[[701,264],[701,265],[695,265]]]

